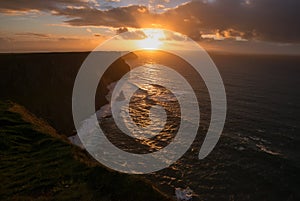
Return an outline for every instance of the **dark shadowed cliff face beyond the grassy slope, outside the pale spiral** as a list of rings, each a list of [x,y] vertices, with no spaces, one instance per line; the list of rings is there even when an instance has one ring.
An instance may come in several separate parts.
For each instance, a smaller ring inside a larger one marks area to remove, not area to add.
[[[0,98],[16,101],[71,135],[72,90],[77,72],[88,53],[0,54]],[[96,109],[106,104],[107,85],[130,67],[116,60],[104,73],[95,97]]]

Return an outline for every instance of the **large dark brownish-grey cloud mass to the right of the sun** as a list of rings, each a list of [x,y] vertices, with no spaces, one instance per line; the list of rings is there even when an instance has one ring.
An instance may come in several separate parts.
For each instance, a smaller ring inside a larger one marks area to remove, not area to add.
[[[231,32],[247,39],[300,42],[300,1],[194,1],[163,14],[169,26],[201,39],[199,33]],[[177,26],[180,25],[180,26]]]

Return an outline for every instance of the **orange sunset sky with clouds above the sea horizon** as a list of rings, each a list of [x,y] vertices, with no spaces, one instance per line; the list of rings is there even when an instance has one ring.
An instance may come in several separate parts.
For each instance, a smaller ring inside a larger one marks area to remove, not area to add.
[[[0,0],[0,52],[91,51],[156,28],[208,51],[300,54],[299,11],[299,0]]]

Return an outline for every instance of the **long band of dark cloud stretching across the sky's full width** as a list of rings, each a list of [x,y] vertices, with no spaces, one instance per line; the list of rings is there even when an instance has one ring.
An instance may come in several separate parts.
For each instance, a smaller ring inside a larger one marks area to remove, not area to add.
[[[55,11],[72,26],[140,28],[160,24],[194,40],[203,40],[202,34],[217,33],[231,39],[300,43],[299,0],[198,0],[160,14],[137,5],[98,10],[81,0],[0,0],[0,7],[2,12]]]

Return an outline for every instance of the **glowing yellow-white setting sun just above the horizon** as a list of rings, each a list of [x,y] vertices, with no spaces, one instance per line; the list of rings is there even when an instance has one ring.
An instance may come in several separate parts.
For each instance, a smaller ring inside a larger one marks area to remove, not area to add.
[[[164,31],[161,29],[144,29],[146,38],[138,41],[138,46],[141,49],[155,50],[163,44],[165,38]]]

